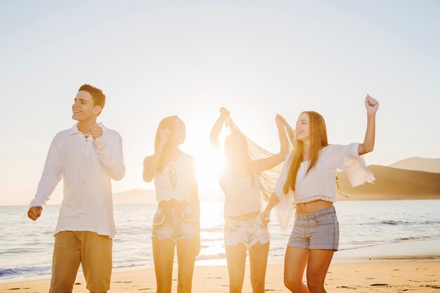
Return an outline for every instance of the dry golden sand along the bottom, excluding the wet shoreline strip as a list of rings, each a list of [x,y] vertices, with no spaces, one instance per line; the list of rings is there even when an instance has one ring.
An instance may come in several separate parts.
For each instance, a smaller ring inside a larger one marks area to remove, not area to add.
[[[243,292],[252,292],[249,267],[246,270]],[[48,292],[49,282],[44,279],[1,283],[0,292],[44,293]],[[325,284],[328,292],[440,292],[440,261],[332,263]],[[288,292],[283,285],[282,264],[268,265],[266,291]],[[82,275],[77,277],[73,292],[88,292]],[[110,292],[155,292],[153,268],[113,273]],[[228,292],[226,266],[196,266],[193,292]]]

